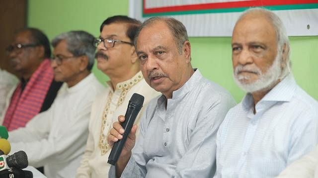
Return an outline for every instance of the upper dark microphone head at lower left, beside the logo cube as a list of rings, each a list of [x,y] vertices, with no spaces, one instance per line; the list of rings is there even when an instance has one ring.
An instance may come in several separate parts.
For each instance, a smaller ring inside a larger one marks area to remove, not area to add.
[[[28,167],[28,157],[24,151],[18,151],[6,158],[6,163],[9,168],[24,169]]]

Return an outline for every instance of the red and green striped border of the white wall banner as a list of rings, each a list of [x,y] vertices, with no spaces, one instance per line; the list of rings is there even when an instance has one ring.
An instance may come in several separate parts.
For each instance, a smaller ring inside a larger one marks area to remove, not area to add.
[[[226,0],[208,3],[183,4],[170,3],[169,5],[151,5],[147,7],[147,3],[152,0],[143,0],[143,16],[158,15],[180,15],[180,14],[196,14],[196,13],[222,13],[222,12],[240,12],[249,7],[262,6],[271,10],[287,10],[287,9],[311,9],[318,8],[318,0]],[[164,2],[162,0],[161,2]],[[170,2],[173,2],[170,1]]]

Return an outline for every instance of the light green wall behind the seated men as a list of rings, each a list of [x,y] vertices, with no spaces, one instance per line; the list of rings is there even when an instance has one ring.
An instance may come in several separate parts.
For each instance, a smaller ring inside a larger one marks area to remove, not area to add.
[[[70,30],[85,30],[96,37],[103,20],[128,15],[128,0],[28,0],[28,26],[42,29],[53,39]],[[292,69],[297,83],[318,100],[318,36],[290,37]],[[192,66],[208,79],[228,89],[239,102],[244,95],[233,81],[230,37],[190,38]],[[98,80],[108,77],[96,67]]]

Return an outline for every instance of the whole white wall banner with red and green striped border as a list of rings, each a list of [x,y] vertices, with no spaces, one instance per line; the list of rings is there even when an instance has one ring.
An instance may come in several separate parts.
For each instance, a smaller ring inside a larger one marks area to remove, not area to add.
[[[290,36],[318,35],[318,0],[130,0],[130,16],[172,16],[189,36],[231,36],[240,13],[250,7],[273,10]]]

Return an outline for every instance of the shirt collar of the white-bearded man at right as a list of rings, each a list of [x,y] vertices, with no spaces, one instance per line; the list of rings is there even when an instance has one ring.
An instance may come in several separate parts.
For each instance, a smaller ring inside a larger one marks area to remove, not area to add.
[[[293,74],[287,75],[280,83],[271,89],[257,104],[265,101],[290,101],[295,94],[296,81]],[[242,99],[242,105],[247,110],[254,105],[251,93],[247,93]]]

